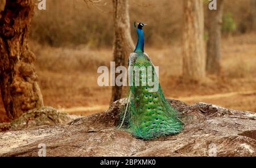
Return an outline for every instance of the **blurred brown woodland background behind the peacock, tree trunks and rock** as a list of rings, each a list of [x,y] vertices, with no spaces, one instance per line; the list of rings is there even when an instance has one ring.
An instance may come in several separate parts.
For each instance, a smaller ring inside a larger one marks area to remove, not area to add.
[[[221,74],[201,82],[183,81],[182,17],[179,0],[130,0],[133,22],[144,22],[145,51],[159,66],[160,84],[167,98],[188,104],[208,102],[256,111],[255,0],[225,0],[222,16]],[[204,5],[205,42],[208,40],[208,1]],[[29,46],[36,55],[36,71],[44,105],[71,114],[89,115],[108,109],[111,87],[97,85],[97,68],[113,60],[113,5],[82,0],[47,1],[35,8]],[[7,121],[0,101],[0,121]]]

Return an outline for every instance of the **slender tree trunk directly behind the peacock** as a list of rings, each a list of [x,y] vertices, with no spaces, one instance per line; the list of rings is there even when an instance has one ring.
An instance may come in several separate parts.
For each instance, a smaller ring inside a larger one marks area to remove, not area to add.
[[[127,67],[127,59],[134,49],[130,34],[129,4],[127,0],[113,0],[114,8],[114,62],[115,67]],[[110,104],[119,100],[124,88],[115,85],[112,88]]]

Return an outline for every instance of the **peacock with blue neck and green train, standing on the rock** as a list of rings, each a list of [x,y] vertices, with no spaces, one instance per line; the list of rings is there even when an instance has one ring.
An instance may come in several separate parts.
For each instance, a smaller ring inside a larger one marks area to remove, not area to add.
[[[177,117],[174,107],[167,102],[160,84],[158,83],[158,89],[154,91],[153,86],[147,82],[152,79],[158,82],[159,78],[156,67],[144,53],[144,25],[146,24],[134,23],[138,42],[128,60],[129,95],[126,106],[119,114],[119,128],[124,128],[138,139],[149,140],[181,132],[183,122]],[[134,67],[141,68],[139,76],[136,76]],[[142,71],[144,67],[146,71]],[[152,73],[148,73],[150,69]]]

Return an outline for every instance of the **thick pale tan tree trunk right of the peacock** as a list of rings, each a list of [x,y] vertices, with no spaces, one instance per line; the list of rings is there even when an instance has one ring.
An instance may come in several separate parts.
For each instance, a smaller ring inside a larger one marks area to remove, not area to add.
[[[183,77],[199,81],[205,77],[203,1],[184,0]]]

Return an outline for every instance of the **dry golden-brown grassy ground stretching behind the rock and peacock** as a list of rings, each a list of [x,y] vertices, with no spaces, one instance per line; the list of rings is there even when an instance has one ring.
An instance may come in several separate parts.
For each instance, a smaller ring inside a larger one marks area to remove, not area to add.
[[[44,105],[76,115],[90,115],[108,109],[111,87],[97,85],[97,68],[110,66],[112,49],[85,46],[51,48],[30,42],[37,57],[36,68]],[[222,73],[200,83],[184,81],[181,47],[149,48],[159,66],[160,84],[167,98],[193,104],[207,102],[230,109],[256,112],[256,35],[225,38],[222,42]],[[0,122],[7,121],[0,101]]]

